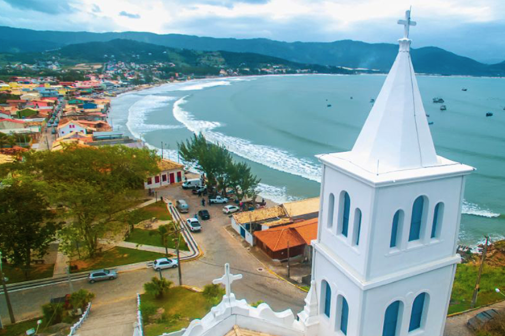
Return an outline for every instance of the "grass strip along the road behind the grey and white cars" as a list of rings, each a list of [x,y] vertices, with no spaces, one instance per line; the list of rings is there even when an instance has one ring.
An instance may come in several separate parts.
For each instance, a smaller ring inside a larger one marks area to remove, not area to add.
[[[136,262],[150,261],[165,257],[165,254],[114,247],[94,259],[72,261],[78,269],[72,272],[82,272],[93,269],[109,268],[114,266],[133,264]]]

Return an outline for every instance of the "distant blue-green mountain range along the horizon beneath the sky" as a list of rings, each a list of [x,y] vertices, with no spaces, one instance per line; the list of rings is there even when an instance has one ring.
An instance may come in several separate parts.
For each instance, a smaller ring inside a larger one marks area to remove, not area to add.
[[[32,52],[86,42],[128,39],[165,47],[258,53],[301,64],[366,68],[387,72],[397,44],[341,40],[335,42],[282,42],[265,38],[235,39],[148,32],[65,32],[0,27],[0,52]],[[412,49],[417,73],[463,76],[504,76],[505,61],[488,65],[438,47]]]

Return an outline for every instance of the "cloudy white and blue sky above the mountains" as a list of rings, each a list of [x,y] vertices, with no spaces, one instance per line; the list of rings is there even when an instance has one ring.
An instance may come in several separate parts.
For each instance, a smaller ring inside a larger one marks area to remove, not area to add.
[[[505,60],[505,0],[0,0],[0,25],[283,41],[395,42],[412,5],[414,47]],[[0,37],[1,38],[1,37]]]

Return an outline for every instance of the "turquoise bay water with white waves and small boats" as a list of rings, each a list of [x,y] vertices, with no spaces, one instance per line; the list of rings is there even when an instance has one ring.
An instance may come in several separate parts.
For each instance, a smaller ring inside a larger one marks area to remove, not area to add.
[[[111,117],[115,130],[163,147],[174,160],[177,143],[202,132],[252,166],[262,196],[283,202],[319,195],[314,155],[352,147],[384,79],[303,75],[166,84],[114,98]],[[418,82],[437,153],[477,168],[467,180],[461,243],[504,237],[505,79],[418,76]],[[446,111],[432,103],[435,96]],[[486,118],[488,111],[494,116]]]

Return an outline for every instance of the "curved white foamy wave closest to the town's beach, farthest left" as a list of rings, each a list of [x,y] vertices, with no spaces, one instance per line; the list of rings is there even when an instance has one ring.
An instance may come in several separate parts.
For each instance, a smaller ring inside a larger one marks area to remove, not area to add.
[[[135,138],[141,140],[144,140],[143,134],[147,132],[184,128],[182,125],[145,124],[145,119],[151,111],[156,108],[163,107],[167,102],[175,99],[177,98],[148,95],[136,101],[128,109],[128,121],[126,122],[126,127]]]

